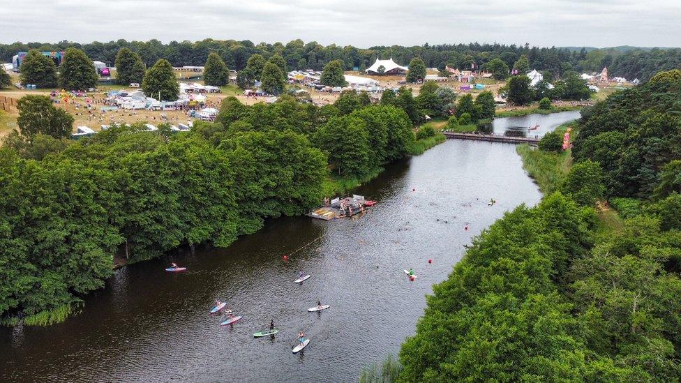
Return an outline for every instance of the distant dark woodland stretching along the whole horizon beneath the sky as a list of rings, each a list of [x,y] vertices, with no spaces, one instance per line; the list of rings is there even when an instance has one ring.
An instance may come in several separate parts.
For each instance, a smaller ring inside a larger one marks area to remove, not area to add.
[[[502,44],[457,44],[428,45],[402,47],[369,47],[368,49],[347,45],[320,45],[315,41],[305,43],[303,40],[292,40],[289,43],[259,43],[250,40],[213,40],[196,42],[172,41],[164,44],[159,40],[126,41],[117,40],[109,43],[13,43],[0,45],[0,60],[10,62],[17,52],[28,52],[29,49],[41,51],[66,50],[77,47],[93,60],[114,65],[119,49],[127,47],[137,52],[150,67],[158,59],[167,59],[173,66],[203,66],[209,53],[216,52],[222,57],[230,69],[242,70],[253,54],[262,54],[266,59],[273,54],[281,54],[287,68],[322,70],[327,63],[341,60],[346,70],[352,68],[368,68],[377,57],[392,57],[397,63],[407,65],[411,59],[419,57],[428,68],[451,67],[467,69],[471,64],[481,68],[493,59],[500,59],[509,68],[523,54],[529,60],[530,68],[550,71],[554,75],[562,75],[567,70],[585,72],[600,71],[604,66],[610,68],[611,75],[648,80],[659,70],[670,70],[681,66],[681,50],[567,50],[556,47],[530,47],[530,45]]]

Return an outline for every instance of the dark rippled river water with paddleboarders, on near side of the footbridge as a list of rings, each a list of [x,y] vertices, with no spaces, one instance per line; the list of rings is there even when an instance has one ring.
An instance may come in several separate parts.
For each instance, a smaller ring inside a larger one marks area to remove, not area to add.
[[[0,381],[356,381],[414,333],[426,294],[472,236],[541,197],[513,145],[456,140],[390,165],[356,193],[378,204],[330,222],[269,220],[229,248],[133,264],[62,324],[0,329]],[[170,262],[188,271],[163,271]],[[300,270],[312,277],[296,285]],[[215,299],[244,319],[219,326],[208,313]],[[331,308],[308,313],[317,299]],[[271,319],[276,337],[254,339]],[[310,345],[292,354],[298,331]]]

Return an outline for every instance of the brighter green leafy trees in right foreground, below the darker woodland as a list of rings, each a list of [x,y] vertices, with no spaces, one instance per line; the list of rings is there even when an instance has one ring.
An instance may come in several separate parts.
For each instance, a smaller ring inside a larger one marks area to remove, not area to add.
[[[399,381],[679,380],[680,232],[637,218],[594,246],[595,220],[556,193],[489,227],[433,287]]]

